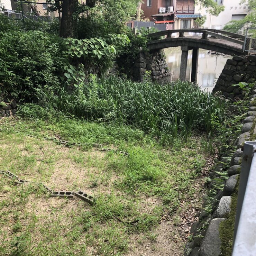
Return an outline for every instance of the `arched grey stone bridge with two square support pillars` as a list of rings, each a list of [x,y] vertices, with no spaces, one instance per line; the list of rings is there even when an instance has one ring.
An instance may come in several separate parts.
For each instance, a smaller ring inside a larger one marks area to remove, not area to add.
[[[186,34],[185,33],[189,33]],[[191,33],[193,35],[191,35]],[[173,34],[179,34],[179,37],[172,37]],[[157,39],[166,36],[164,39]],[[158,50],[168,47],[181,46],[181,68],[180,79],[185,81],[186,66],[188,61],[188,51],[193,50],[192,54],[192,74],[191,81],[196,82],[197,66],[198,66],[198,49],[206,49],[209,51],[224,53],[228,55],[245,55],[247,41],[249,37],[243,35],[217,30],[217,29],[176,29],[165,30],[148,34],[150,41],[147,43],[149,50]],[[245,43],[246,40],[246,43]]]

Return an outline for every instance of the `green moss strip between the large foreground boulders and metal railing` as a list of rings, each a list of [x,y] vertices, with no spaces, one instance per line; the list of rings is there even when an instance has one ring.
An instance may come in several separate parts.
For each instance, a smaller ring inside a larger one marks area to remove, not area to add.
[[[232,254],[238,187],[239,180],[237,181],[234,193],[232,194],[230,212],[227,214],[227,220],[222,221],[219,227],[221,254],[225,256],[231,256]]]

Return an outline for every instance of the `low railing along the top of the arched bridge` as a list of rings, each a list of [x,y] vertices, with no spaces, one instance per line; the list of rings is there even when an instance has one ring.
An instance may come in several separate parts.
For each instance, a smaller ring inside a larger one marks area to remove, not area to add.
[[[236,33],[219,30],[219,29],[200,29],[200,28],[159,31],[156,33],[148,34],[147,37],[157,38],[161,36],[166,36],[167,38],[172,38],[172,35],[177,33],[179,34],[179,37],[185,37],[184,33],[196,33],[197,35],[201,34],[202,35],[201,39],[205,39],[205,40],[208,40],[208,36],[211,36],[212,38],[220,38],[228,42],[238,44],[239,46],[237,48],[241,48],[241,49],[243,49],[243,45],[246,40],[246,36],[244,35],[239,35]]]

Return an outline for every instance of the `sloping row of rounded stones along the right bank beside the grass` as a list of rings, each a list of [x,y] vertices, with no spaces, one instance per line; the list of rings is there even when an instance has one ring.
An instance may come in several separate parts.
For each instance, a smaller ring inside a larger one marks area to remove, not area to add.
[[[215,196],[206,197],[200,213],[199,221],[190,229],[191,240],[185,244],[184,256],[219,256],[221,254],[221,239],[219,227],[222,221],[229,218],[231,199],[239,179],[241,162],[243,158],[243,145],[245,141],[252,140],[256,136],[256,90],[247,111],[247,117],[243,121],[240,136],[236,139],[234,147],[236,151],[231,156],[230,152],[223,154],[220,162],[209,173],[210,181],[205,183],[208,190],[216,186],[224,185],[223,189],[215,189]],[[228,179],[221,179],[220,173],[227,171]],[[221,183],[222,182],[222,183]],[[234,194],[235,195],[235,194]]]

